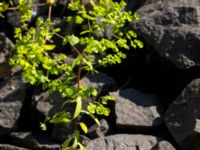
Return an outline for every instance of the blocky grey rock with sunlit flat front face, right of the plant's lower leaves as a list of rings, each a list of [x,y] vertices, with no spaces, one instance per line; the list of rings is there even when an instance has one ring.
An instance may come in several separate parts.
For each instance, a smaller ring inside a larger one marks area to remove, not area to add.
[[[115,97],[116,125],[118,128],[142,129],[159,126],[164,110],[159,98],[144,95],[135,89],[112,92]]]

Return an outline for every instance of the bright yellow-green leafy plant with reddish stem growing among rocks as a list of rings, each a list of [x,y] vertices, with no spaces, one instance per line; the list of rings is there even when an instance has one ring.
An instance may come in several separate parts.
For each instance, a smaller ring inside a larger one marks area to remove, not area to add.
[[[92,87],[80,85],[81,74],[83,71],[98,73],[98,66],[121,63],[122,59],[126,58],[125,51],[130,47],[142,48],[143,43],[137,39],[137,34],[127,28],[127,24],[133,19],[138,20],[139,16],[137,13],[126,11],[126,3],[123,0],[90,0],[89,7],[83,5],[80,0],[69,1],[65,5],[70,13],[63,19],[69,25],[77,25],[79,30],[61,36],[61,29],[55,28],[55,23],[51,19],[55,3],[55,0],[47,0],[48,18],[38,17],[35,27],[29,27],[31,7],[36,5],[33,4],[33,0],[19,0],[16,6],[12,0],[8,3],[0,2],[0,12],[16,10],[21,19],[21,26],[15,29],[16,53],[10,59],[10,64],[21,66],[22,76],[26,82],[41,85],[44,90],[58,91],[66,99],[63,105],[75,104],[74,112],[66,112],[63,109],[41,123],[41,128],[46,129],[46,122],[73,124],[74,134],[63,143],[62,148],[76,150],[79,147],[84,150],[85,147],[79,142],[78,127],[85,133],[88,129],[84,122],[79,122],[79,115],[87,114],[100,125],[95,114],[108,116],[110,110],[106,104],[114,98],[104,96],[83,110],[82,99],[97,96],[97,91]],[[2,14],[1,16],[3,17]],[[52,40],[54,36],[62,39],[63,46],[70,47],[68,51],[71,52],[71,56],[65,53],[52,55],[52,52],[56,51]],[[69,57],[73,58],[72,64],[65,63]],[[60,75],[63,75],[62,78]]]

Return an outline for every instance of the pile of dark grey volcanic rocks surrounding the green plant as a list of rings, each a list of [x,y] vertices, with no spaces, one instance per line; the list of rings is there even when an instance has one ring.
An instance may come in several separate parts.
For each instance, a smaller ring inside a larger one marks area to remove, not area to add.
[[[88,150],[200,149],[199,0],[129,0],[141,18],[133,22],[144,49],[120,65],[100,68],[81,83],[115,96],[101,127],[90,124],[82,141]],[[37,10],[42,13],[41,10]],[[58,93],[24,83],[8,67],[14,51],[11,16],[0,20],[0,150],[59,150],[70,134],[66,124],[39,123],[62,104]]]

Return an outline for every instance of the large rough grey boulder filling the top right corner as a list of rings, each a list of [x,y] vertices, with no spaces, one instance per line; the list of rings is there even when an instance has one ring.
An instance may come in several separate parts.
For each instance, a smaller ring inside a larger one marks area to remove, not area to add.
[[[200,64],[199,0],[163,0],[147,3],[134,21],[136,31],[157,53],[177,67]]]

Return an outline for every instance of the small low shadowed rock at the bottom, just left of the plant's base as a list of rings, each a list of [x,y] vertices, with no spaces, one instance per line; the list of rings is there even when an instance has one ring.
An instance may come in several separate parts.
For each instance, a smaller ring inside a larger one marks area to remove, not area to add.
[[[44,137],[35,137],[31,132],[11,133],[13,144],[32,150],[61,150],[59,144],[53,143]]]

